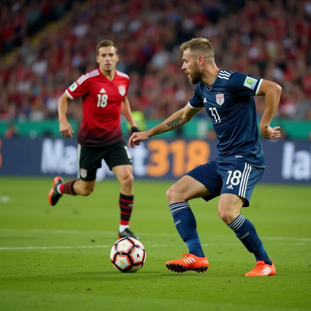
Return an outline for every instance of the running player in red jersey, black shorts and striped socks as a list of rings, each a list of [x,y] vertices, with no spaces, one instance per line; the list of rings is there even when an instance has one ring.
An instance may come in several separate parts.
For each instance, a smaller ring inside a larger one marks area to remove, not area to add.
[[[131,124],[132,132],[138,130],[127,98],[129,77],[115,69],[119,56],[114,42],[103,40],[96,50],[99,68],[73,82],[58,100],[59,130],[64,137],[72,138],[73,130],[66,117],[68,101],[82,97],[83,119],[77,137],[78,180],[64,183],[62,177],[56,176],[49,192],[49,203],[55,205],[64,193],[87,196],[93,192],[96,171],[104,159],[121,185],[118,238],[129,236],[139,239],[129,229],[134,201],[134,178],[132,159],[120,124],[122,113]]]

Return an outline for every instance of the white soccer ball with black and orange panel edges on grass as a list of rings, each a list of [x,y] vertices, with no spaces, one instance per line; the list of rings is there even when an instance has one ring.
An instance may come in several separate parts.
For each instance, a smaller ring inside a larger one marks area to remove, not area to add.
[[[145,263],[146,251],[138,240],[122,238],[111,248],[110,260],[113,266],[122,272],[136,272]]]

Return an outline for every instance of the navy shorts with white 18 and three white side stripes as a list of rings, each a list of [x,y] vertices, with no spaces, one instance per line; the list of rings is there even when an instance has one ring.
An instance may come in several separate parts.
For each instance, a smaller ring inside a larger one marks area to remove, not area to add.
[[[209,201],[222,193],[233,193],[244,197],[246,202],[243,207],[249,206],[250,197],[254,187],[263,175],[264,168],[256,167],[239,160],[210,162],[199,165],[186,175],[202,183],[210,192],[203,197]]]

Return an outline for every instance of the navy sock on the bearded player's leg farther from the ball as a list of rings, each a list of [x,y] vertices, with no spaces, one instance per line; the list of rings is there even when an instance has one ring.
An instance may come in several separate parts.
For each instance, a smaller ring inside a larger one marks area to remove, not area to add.
[[[244,244],[247,250],[255,255],[256,261],[263,260],[268,265],[272,265],[254,225],[248,219],[239,214],[227,226],[234,231],[237,238]]]

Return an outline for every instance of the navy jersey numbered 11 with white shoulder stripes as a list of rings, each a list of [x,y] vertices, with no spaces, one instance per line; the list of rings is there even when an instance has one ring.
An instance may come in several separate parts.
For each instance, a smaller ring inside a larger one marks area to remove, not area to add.
[[[210,88],[203,82],[197,84],[188,105],[205,107],[211,118],[218,138],[215,161],[242,160],[265,166],[253,98],[261,83],[260,78],[220,69]]]

